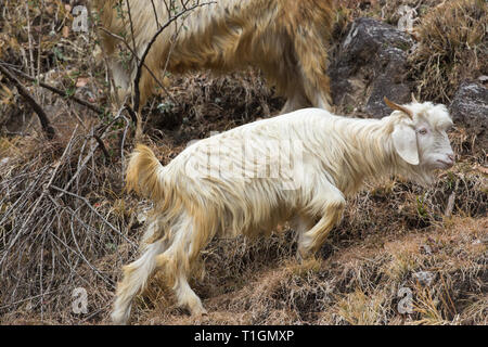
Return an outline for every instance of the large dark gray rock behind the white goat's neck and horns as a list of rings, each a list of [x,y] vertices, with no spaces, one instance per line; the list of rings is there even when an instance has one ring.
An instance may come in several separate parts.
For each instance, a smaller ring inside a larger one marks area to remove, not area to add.
[[[344,108],[359,106],[373,117],[389,115],[383,97],[410,102],[406,81],[410,36],[372,18],[356,20],[331,63],[332,98]]]

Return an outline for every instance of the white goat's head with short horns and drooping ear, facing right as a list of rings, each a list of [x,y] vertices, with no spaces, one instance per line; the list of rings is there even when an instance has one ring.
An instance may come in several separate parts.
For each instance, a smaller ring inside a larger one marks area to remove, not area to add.
[[[398,119],[391,133],[394,147],[404,162],[425,172],[454,165],[454,152],[447,134],[452,120],[445,105],[419,103],[414,99],[410,104],[398,105],[387,98],[385,103],[394,114],[400,112],[408,116]]]

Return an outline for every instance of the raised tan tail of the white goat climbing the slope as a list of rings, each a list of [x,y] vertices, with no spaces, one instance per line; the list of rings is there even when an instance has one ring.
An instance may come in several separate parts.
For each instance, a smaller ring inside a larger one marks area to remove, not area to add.
[[[127,167],[127,191],[134,191],[154,202],[162,201],[164,196],[163,171],[164,166],[149,146],[136,145]]]

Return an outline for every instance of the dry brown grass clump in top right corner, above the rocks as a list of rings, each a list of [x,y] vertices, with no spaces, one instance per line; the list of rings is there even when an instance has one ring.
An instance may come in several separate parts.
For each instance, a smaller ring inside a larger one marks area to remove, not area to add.
[[[421,18],[411,64],[422,98],[448,102],[463,80],[488,75],[487,27],[484,0],[445,1]]]

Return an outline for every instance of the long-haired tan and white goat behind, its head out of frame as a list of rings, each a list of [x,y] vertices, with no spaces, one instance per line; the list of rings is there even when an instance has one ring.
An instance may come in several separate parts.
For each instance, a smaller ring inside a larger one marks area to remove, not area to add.
[[[178,2],[94,0],[94,4],[101,25],[125,37],[141,56],[158,29],[156,16],[159,25],[166,23],[175,15],[168,9]],[[310,105],[330,110],[325,70],[333,17],[333,0],[219,0],[189,12],[184,21],[178,20],[178,25],[166,28],[152,46],[145,65],[154,73],[165,68],[171,73],[204,68],[229,73],[254,66],[287,98],[282,113]],[[127,66],[117,52],[121,42],[104,30],[100,33],[115,83],[127,93],[137,62],[132,60]],[[140,105],[154,85],[144,69]]]

